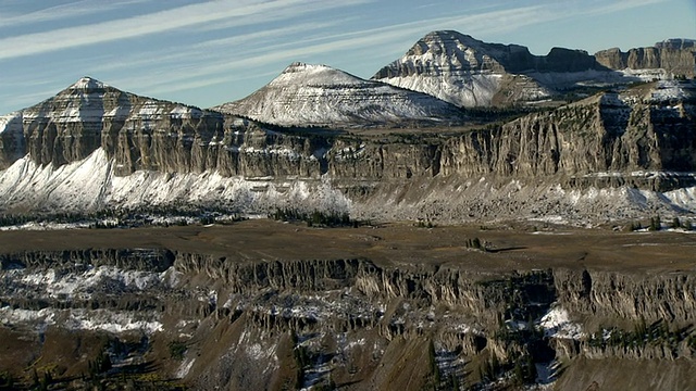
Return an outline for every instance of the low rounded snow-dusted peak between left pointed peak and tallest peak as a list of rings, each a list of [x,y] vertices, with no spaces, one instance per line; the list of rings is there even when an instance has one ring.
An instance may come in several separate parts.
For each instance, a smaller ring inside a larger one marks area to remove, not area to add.
[[[369,81],[325,65],[294,63],[249,97],[215,110],[284,126],[360,127],[461,121],[461,112],[424,93]]]

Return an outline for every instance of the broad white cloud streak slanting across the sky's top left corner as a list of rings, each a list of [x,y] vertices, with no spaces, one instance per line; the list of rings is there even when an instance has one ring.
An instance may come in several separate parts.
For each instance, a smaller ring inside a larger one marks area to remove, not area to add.
[[[327,10],[364,2],[365,0],[314,1],[312,9]],[[256,15],[262,18],[264,14],[279,9],[284,11],[285,18],[293,18],[294,15],[302,13],[308,7],[307,0],[245,2],[215,0],[201,4],[184,5],[129,18],[0,39],[0,48],[2,48],[0,60],[141,37],[224,20],[235,20],[236,25],[246,25],[252,23],[249,21],[250,16]]]

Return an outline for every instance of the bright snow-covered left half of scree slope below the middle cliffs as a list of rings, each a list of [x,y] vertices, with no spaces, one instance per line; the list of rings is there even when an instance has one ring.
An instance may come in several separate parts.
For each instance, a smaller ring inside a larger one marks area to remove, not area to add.
[[[83,212],[108,206],[225,203],[243,212],[294,205],[346,212],[350,201],[323,180],[223,177],[217,173],[139,171],[113,175],[113,161],[97,149],[89,157],[54,168],[25,156],[0,172],[0,207]]]

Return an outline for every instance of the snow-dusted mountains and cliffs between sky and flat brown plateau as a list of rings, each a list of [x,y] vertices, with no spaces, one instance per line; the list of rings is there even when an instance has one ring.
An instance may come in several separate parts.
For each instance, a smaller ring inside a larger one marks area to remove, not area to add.
[[[85,77],[0,117],[0,209],[679,215],[696,211],[695,55],[673,39],[537,56],[434,31],[370,80],[294,63],[209,110]]]

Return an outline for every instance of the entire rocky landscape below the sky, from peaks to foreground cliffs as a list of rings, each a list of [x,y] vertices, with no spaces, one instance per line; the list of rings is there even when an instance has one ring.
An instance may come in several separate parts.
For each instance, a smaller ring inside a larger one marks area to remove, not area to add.
[[[0,390],[695,389],[693,43],[0,116]]]

